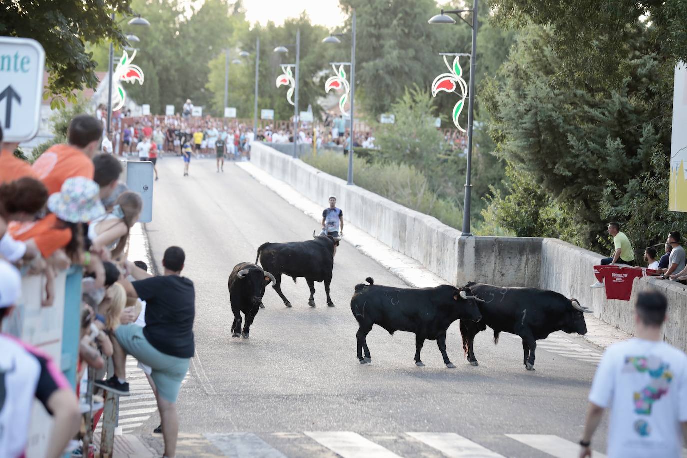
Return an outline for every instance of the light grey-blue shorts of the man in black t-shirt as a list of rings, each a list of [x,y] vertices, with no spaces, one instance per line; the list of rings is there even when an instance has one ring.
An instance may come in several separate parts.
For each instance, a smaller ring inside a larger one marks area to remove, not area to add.
[[[177,402],[181,382],[188,373],[190,358],[177,358],[164,354],[150,345],[143,334],[143,328],[135,324],[121,325],[115,331],[117,341],[124,351],[140,363],[150,366],[157,392],[167,402]]]

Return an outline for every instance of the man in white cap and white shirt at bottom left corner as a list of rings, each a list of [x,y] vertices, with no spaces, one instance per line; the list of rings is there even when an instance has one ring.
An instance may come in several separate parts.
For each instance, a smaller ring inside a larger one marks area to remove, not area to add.
[[[0,260],[0,324],[21,295],[21,275]],[[76,393],[52,359],[31,345],[0,334],[0,457],[21,457],[28,439],[34,398],[52,415],[46,457],[61,457],[79,431]]]

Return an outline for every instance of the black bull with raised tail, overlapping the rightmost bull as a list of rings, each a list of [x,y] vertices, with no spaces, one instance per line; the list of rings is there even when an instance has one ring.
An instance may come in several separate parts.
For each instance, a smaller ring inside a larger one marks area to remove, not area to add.
[[[455,369],[446,352],[446,332],[449,326],[458,319],[480,321],[482,318],[477,306],[480,299],[473,296],[470,288],[455,288],[450,285],[436,288],[391,288],[376,286],[372,278],[367,278],[366,281],[370,285],[357,285],[350,301],[350,310],[360,325],[356,336],[361,364],[372,363],[366,338],[372,326],[379,325],[392,335],[396,331],[415,334],[415,364],[418,367],[425,366],[420,360],[420,352],[425,339],[429,339],[436,340],[446,367]]]

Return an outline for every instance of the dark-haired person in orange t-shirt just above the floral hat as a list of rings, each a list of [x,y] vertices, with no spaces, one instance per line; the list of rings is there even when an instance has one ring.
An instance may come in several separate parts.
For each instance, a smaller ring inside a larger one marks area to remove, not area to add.
[[[92,159],[100,150],[102,122],[89,115],[74,117],[69,123],[67,141],[67,145],[49,148],[33,165],[49,194],[60,192],[65,181],[75,176],[93,179]]]

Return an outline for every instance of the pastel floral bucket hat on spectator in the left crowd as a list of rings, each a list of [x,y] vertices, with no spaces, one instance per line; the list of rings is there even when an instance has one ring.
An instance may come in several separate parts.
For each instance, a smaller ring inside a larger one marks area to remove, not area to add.
[[[74,223],[91,222],[105,213],[100,186],[83,176],[65,181],[62,190],[50,196],[47,207],[60,220]]]

